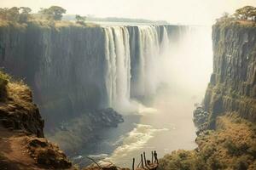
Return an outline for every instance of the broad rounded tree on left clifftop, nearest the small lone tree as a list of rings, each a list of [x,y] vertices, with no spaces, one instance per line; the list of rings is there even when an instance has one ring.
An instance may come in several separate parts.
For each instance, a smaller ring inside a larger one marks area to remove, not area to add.
[[[66,13],[66,9],[59,6],[51,6],[50,8],[41,8],[39,13],[43,14],[47,20],[61,20],[63,14]]]

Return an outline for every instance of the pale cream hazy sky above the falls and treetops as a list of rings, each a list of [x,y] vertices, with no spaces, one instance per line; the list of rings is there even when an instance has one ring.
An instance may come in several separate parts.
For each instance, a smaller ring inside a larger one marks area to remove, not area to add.
[[[68,14],[93,14],[99,17],[129,17],[167,20],[181,24],[211,24],[224,11],[233,13],[256,0],[0,0],[0,7],[39,8],[59,5]]]

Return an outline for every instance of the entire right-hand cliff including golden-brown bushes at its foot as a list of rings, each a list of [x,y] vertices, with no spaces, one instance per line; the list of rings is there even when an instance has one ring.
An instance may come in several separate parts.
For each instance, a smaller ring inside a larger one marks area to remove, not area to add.
[[[213,73],[203,104],[195,150],[160,159],[160,170],[256,169],[256,26],[227,21],[212,26]]]

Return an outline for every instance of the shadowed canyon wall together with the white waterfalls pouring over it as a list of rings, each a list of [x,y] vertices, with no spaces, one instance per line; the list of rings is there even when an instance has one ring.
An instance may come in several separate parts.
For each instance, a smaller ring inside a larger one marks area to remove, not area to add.
[[[155,63],[185,26],[0,26],[0,66],[32,87],[46,127],[154,93]],[[118,108],[117,108],[118,109]]]

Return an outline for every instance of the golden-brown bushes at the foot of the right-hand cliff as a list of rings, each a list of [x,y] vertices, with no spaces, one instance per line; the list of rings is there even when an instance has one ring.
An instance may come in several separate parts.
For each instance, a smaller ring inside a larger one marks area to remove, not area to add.
[[[219,116],[216,131],[201,134],[195,150],[160,159],[160,170],[256,169],[256,126],[235,113]]]

